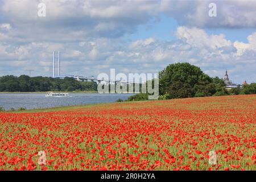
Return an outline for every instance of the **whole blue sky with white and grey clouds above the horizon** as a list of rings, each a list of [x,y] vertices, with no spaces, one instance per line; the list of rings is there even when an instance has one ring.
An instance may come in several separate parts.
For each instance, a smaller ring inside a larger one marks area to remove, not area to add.
[[[189,62],[256,82],[256,1],[0,0],[0,76],[52,76],[53,51],[63,75],[157,73]]]

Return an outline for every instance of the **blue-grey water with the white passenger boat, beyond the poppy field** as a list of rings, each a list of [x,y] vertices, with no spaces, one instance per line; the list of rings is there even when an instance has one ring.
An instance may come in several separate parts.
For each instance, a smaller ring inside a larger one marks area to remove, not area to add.
[[[133,94],[69,93],[69,97],[45,97],[45,93],[0,93],[0,106],[5,110],[18,107],[39,109],[56,106],[85,105],[126,100]]]

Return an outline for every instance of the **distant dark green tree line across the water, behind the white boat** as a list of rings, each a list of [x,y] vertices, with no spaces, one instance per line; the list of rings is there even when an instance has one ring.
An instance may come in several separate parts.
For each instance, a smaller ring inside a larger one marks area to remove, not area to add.
[[[0,92],[97,92],[97,83],[94,81],[77,81],[74,78],[64,79],[52,77],[19,77],[7,75],[0,77]]]

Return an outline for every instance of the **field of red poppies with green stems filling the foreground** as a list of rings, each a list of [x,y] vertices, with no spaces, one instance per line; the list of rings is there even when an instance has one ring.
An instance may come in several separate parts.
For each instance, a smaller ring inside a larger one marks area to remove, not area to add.
[[[0,113],[0,170],[255,169],[255,94]]]

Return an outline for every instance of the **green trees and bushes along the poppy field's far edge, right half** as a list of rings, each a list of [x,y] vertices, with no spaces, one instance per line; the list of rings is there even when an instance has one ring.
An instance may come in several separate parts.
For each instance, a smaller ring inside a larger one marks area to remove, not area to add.
[[[210,77],[189,63],[170,64],[159,72],[159,100],[236,94],[256,94],[256,84],[228,90],[222,78]],[[147,96],[137,94],[128,98],[128,101],[147,100]]]

